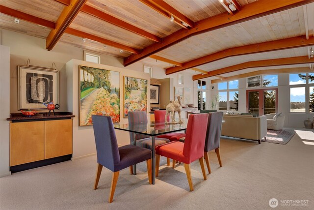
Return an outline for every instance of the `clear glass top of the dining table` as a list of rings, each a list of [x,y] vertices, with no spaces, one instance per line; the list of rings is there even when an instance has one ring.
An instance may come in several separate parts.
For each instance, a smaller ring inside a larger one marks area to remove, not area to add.
[[[186,130],[187,121],[188,119],[183,119],[183,123],[177,124],[165,124],[164,121],[140,122],[136,124],[118,122],[114,123],[114,128],[118,130],[145,134],[148,136],[157,136],[175,131]]]

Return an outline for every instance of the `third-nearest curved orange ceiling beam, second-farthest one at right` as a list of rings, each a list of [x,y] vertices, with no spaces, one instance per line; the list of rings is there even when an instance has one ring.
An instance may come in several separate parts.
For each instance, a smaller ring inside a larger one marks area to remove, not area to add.
[[[307,56],[284,58],[284,59],[249,61],[249,62],[240,63],[237,65],[209,71],[208,74],[193,75],[193,80],[204,79],[204,78],[217,76],[220,74],[226,74],[226,73],[230,73],[230,72],[234,72],[234,71],[238,71],[238,70],[242,70],[246,68],[277,66],[277,65],[292,65],[292,64],[313,63],[313,62],[314,62],[314,59],[308,59]]]

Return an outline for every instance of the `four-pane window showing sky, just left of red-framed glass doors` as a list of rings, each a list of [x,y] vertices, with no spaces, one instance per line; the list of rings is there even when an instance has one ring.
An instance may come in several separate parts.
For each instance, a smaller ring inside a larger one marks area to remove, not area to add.
[[[239,81],[218,83],[219,110],[238,110]]]

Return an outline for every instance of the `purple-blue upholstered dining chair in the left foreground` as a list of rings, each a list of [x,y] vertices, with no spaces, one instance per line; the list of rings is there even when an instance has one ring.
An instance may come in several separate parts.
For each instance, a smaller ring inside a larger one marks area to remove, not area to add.
[[[103,166],[113,172],[109,192],[109,203],[112,202],[114,191],[122,169],[132,167],[146,160],[149,183],[152,184],[152,152],[149,149],[126,145],[118,148],[117,138],[112,119],[109,116],[93,115],[93,128],[97,151],[97,171],[94,189],[97,189]]]

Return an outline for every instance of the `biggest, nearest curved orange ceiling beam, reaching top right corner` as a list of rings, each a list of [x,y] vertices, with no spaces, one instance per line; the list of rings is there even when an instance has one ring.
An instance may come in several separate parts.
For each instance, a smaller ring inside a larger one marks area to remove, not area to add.
[[[273,14],[279,11],[294,8],[300,5],[314,2],[314,0],[280,0],[280,1],[269,1],[269,0],[258,0],[253,3],[246,4],[241,7],[241,10],[230,16],[227,12],[219,14],[207,19],[194,23],[194,28],[185,30],[178,30],[165,38],[161,43],[154,43],[141,51],[139,55],[131,55],[124,59],[124,65],[128,66],[138,60],[142,60],[150,55],[156,54],[157,52],[173,46],[174,44],[183,41],[193,35],[208,32],[211,30],[217,30],[227,26],[232,26],[244,21],[259,18],[265,15]]]

